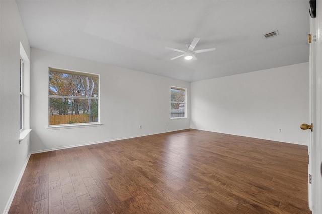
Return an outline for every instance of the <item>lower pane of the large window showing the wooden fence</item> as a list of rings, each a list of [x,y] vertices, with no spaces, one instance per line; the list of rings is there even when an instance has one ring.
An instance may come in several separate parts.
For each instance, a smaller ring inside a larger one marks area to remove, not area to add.
[[[49,125],[98,122],[97,99],[49,98]]]

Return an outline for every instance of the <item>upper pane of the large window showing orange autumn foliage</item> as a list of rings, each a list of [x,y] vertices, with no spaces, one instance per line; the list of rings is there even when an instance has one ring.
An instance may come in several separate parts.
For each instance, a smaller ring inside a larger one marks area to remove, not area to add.
[[[98,97],[98,77],[49,71],[49,95]]]

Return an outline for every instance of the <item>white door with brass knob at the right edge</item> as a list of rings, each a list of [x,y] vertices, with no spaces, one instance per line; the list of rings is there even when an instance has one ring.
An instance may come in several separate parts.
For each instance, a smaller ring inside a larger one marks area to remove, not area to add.
[[[309,151],[309,206],[322,213],[322,1],[316,1],[316,18],[310,18],[310,116],[313,123]]]

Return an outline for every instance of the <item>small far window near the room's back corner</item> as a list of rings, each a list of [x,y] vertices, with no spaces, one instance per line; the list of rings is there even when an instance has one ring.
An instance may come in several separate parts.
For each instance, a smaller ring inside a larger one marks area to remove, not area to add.
[[[186,89],[171,87],[170,118],[186,117]]]

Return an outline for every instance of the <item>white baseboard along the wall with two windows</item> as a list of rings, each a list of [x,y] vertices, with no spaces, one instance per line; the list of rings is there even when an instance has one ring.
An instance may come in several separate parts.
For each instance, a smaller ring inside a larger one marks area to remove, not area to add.
[[[187,128],[187,129],[190,129],[190,128]],[[76,145],[72,145],[72,146],[63,146],[63,147],[56,147],[56,148],[51,148],[51,149],[43,149],[43,150],[38,150],[38,151],[32,151],[30,153],[37,154],[37,153],[42,153],[42,152],[50,152],[50,151],[56,151],[56,150],[60,150],[60,149],[68,149],[68,148],[79,147],[79,146],[107,143],[107,142],[111,142],[111,141],[137,138],[137,137],[143,137],[143,136],[148,136],[148,135],[156,135],[156,134],[162,134],[162,133],[167,133],[167,132],[176,132],[176,131],[181,131],[181,130],[186,130],[186,129],[177,129],[177,130],[171,130],[171,131],[166,131],[166,132],[155,132],[155,133],[149,133],[149,134],[144,134],[144,135],[129,136],[129,137],[125,137],[125,138],[114,138],[114,139],[110,139],[110,140],[96,141],[96,142],[90,142],[90,143],[84,143],[84,144],[76,144]]]

